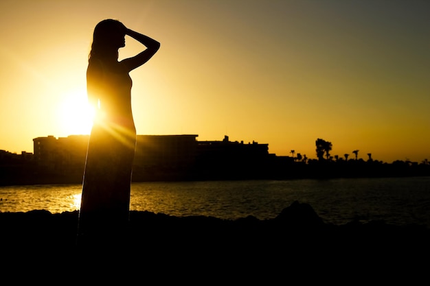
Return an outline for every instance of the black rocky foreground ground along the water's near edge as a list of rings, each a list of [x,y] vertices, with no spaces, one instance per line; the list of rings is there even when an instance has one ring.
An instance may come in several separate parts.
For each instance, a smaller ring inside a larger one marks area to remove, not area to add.
[[[334,226],[299,202],[267,220],[131,211],[122,246],[101,239],[84,250],[76,246],[77,211],[0,213],[0,225],[0,271],[15,282],[47,284],[54,277],[67,285],[118,278],[120,285],[126,279],[146,285],[429,282],[428,228],[383,222]]]

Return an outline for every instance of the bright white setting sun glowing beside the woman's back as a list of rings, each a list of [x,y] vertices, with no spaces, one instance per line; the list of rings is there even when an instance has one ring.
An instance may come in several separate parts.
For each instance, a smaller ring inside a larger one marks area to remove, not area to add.
[[[58,123],[67,135],[90,134],[94,110],[87,100],[87,91],[71,91],[64,95],[58,107]]]

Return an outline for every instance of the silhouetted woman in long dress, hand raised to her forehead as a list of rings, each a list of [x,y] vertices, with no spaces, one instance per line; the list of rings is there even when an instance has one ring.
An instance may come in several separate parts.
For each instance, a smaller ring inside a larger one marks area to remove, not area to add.
[[[126,35],[146,49],[118,61]],[[159,47],[156,40],[120,21],[106,19],[95,26],[87,67],[87,93],[95,119],[82,182],[78,242],[117,239],[125,230],[136,143],[128,73],[147,62]]]

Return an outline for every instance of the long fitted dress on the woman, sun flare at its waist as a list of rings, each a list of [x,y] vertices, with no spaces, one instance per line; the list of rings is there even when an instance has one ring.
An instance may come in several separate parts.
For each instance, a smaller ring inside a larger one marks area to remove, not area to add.
[[[78,223],[78,243],[89,246],[124,236],[136,144],[128,72],[104,68],[97,84],[103,92],[89,138]]]

